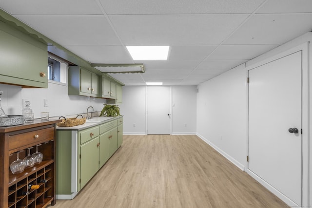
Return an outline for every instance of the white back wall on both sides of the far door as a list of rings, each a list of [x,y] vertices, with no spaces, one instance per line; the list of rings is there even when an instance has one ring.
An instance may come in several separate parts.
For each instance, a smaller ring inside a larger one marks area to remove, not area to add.
[[[122,91],[124,134],[146,134],[146,87],[123,86]],[[195,134],[196,86],[173,86],[172,104],[172,134]]]

